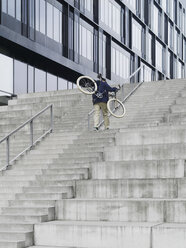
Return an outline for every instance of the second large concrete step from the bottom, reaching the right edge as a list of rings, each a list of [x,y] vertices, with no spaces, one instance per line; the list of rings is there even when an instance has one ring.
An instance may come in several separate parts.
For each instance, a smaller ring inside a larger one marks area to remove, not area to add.
[[[185,208],[186,199],[70,199],[57,201],[56,219],[185,223]]]

